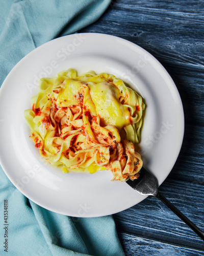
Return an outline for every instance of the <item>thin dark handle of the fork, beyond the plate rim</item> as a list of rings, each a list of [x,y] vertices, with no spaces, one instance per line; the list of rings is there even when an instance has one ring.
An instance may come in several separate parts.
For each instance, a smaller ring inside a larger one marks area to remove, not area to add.
[[[204,241],[204,232],[199,229],[199,227],[197,227],[192,221],[190,221],[184,214],[182,214],[182,212],[177,209],[171,202],[169,202],[160,191],[158,191],[156,197],[160,199],[164,204],[166,204],[166,206],[168,206],[169,209],[174,212],[174,214],[176,214],[182,221],[184,221]]]

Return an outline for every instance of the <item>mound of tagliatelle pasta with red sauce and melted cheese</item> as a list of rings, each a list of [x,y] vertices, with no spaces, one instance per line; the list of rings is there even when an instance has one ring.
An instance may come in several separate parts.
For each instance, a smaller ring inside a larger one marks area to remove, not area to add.
[[[108,169],[113,180],[137,179],[142,167],[142,97],[114,75],[69,69],[41,78],[24,116],[42,157],[64,172]]]

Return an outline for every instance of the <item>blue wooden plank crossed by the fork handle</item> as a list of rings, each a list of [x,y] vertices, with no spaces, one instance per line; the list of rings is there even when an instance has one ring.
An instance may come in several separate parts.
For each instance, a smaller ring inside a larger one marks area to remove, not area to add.
[[[204,230],[204,187],[183,181],[165,181],[161,192],[191,221]],[[196,191],[196,194],[195,194]],[[148,197],[141,203],[114,215],[119,232],[149,239],[204,249],[203,241],[160,200]]]

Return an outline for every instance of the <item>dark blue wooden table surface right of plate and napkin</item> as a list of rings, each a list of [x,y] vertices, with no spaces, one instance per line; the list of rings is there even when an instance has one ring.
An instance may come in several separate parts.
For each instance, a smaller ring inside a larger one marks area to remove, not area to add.
[[[114,0],[97,22],[79,32],[130,40],[171,75],[184,106],[185,135],[160,190],[204,230],[204,2]],[[204,255],[204,242],[157,198],[113,217],[126,255]]]

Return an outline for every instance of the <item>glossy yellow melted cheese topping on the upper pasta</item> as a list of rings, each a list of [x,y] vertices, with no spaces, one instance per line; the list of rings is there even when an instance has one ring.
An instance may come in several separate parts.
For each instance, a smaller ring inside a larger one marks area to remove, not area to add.
[[[82,96],[86,94],[87,110],[100,116],[101,125],[112,124],[121,130],[123,126],[131,124],[130,111],[126,105],[120,103],[119,89],[113,83],[103,80],[83,82],[67,79],[57,95],[56,103],[60,107],[79,105],[83,102]]]

